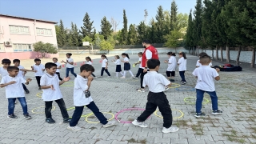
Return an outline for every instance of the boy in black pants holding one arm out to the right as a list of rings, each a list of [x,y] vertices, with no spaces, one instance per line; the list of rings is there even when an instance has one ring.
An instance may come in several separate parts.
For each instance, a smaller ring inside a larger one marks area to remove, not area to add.
[[[46,122],[55,123],[54,119],[51,117],[51,109],[53,101],[58,103],[58,106],[62,112],[63,122],[70,122],[69,114],[66,111],[66,105],[62,98],[61,90],[59,86],[64,82],[70,80],[70,78],[63,78],[62,81],[59,81],[58,75],[55,74],[57,70],[57,65],[53,62],[46,63],[46,74],[42,75],[41,78],[41,88],[42,88],[42,99],[46,103],[45,113],[46,113]]]

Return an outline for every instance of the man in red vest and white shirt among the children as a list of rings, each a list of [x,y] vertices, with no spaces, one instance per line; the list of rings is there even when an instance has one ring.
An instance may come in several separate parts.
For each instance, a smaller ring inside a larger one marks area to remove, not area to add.
[[[142,73],[141,73],[141,88],[137,91],[139,92],[145,92],[144,87],[142,86],[144,75],[147,73],[148,69],[146,66],[146,62],[149,59],[159,59],[158,58],[158,50],[154,48],[154,46],[151,46],[149,40],[144,40],[142,42],[142,46],[145,48],[143,54],[142,54]]]

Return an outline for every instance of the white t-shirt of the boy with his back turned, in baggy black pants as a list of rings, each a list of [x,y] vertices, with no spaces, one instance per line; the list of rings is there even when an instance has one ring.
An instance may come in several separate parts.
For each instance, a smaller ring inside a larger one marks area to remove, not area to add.
[[[170,84],[162,74],[158,74],[156,71],[148,71],[144,75],[143,85],[149,86],[149,90],[153,93],[160,93],[166,90],[166,86]]]

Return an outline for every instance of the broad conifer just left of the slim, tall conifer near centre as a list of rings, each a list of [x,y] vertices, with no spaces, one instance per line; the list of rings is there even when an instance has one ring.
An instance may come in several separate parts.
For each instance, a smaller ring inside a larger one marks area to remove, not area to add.
[[[101,24],[102,31],[100,32],[100,34],[102,34],[104,39],[106,40],[113,32],[113,30],[111,30],[112,26],[105,16],[102,18],[101,22],[102,22]]]

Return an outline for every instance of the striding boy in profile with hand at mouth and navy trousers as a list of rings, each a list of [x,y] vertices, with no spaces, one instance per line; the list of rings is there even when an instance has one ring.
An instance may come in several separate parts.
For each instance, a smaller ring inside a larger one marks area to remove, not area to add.
[[[98,110],[95,105],[94,100],[90,95],[90,83],[93,81],[93,77],[90,74],[94,72],[94,67],[88,64],[82,65],[80,67],[80,74],[74,79],[74,114],[70,121],[70,126],[67,127],[68,130],[82,130],[78,127],[78,121],[81,118],[84,106],[89,108],[98,120],[102,123],[103,127],[113,126],[114,122],[108,122],[105,116]]]

